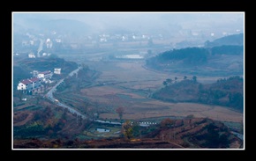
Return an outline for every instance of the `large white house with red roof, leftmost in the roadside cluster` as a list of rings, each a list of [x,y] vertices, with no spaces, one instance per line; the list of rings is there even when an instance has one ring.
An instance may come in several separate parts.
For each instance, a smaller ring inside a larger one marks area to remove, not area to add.
[[[37,77],[32,77],[30,79],[24,79],[19,82],[17,89],[33,91],[34,89],[41,87],[41,79]]]

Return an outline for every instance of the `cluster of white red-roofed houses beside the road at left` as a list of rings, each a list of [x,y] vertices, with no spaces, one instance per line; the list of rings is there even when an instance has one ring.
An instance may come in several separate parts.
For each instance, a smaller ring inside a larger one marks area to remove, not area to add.
[[[61,69],[54,69],[54,72],[50,70],[47,71],[33,71],[33,76],[31,78],[23,79],[19,81],[17,86],[17,90],[24,91],[26,93],[40,93],[44,90],[44,86],[41,83],[50,84],[52,81],[50,80],[53,74],[61,74]]]

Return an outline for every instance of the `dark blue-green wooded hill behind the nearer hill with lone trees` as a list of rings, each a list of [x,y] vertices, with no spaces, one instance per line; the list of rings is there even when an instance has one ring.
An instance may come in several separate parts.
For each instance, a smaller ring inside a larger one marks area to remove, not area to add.
[[[148,58],[146,66],[160,72],[184,75],[222,77],[243,75],[244,46],[171,49]]]

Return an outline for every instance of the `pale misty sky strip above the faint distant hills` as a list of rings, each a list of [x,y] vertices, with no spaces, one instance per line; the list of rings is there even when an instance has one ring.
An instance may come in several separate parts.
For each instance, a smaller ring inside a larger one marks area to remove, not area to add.
[[[244,30],[244,12],[13,12],[14,24],[29,26],[31,20],[72,19],[93,32],[124,28],[130,31],[171,30],[175,27],[230,28]]]

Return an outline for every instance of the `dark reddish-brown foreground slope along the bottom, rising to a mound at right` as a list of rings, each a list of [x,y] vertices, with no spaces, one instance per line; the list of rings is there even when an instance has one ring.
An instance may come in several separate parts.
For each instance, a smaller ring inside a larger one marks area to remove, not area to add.
[[[148,130],[148,129],[147,129]],[[139,138],[99,140],[16,139],[14,149],[239,149],[243,142],[219,121],[187,117],[165,119]]]

